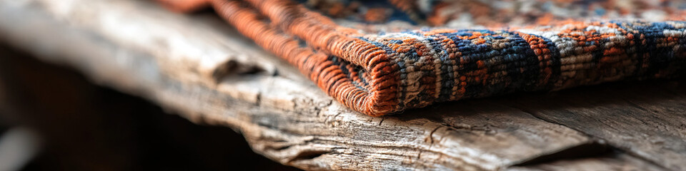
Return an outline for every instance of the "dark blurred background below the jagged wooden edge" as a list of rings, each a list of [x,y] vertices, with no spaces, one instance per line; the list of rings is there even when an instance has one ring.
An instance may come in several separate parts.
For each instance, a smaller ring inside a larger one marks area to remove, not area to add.
[[[0,41],[0,170],[296,170]]]

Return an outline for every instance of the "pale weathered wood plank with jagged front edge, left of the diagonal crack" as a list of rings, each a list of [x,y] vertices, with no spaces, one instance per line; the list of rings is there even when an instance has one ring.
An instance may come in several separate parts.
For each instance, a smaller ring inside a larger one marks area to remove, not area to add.
[[[1,0],[0,38],[307,170],[501,170],[597,143],[494,98],[355,113],[222,21],[146,1]]]

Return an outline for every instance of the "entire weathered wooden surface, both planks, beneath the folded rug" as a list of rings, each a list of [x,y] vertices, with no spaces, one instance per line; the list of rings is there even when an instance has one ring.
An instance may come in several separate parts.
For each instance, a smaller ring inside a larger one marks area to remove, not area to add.
[[[686,170],[683,81],[440,103],[372,118],[211,13],[149,1],[0,0],[0,40],[305,170]]]

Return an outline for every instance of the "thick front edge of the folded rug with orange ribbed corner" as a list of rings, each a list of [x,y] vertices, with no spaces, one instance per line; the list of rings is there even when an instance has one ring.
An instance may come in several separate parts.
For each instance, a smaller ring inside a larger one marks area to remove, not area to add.
[[[686,64],[684,21],[364,33],[293,1],[157,1],[174,11],[213,6],[324,92],[372,116],[517,91],[669,78]]]

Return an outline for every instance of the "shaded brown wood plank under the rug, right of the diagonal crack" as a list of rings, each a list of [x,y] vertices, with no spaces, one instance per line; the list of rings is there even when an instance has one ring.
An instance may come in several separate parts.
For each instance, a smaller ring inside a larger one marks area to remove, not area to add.
[[[686,169],[684,80],[612,83],[502,102],[672,170]]]

